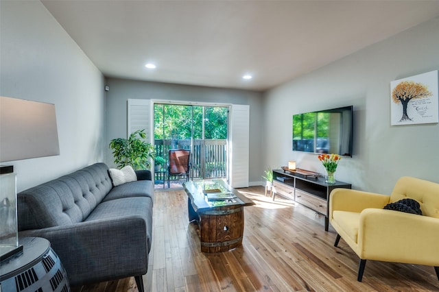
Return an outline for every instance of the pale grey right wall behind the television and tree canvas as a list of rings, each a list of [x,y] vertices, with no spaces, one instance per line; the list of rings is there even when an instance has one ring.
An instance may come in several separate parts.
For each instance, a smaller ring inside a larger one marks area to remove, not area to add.
[[[337,180],[387,194],[403,175],[439,182],[439,125],[390,126],[390,82],[438,70],[438,40],[437,17],[265,93],[265,164],[323,173],[316,154],[292,151],[292,115],[353,105],[353,158]]]

